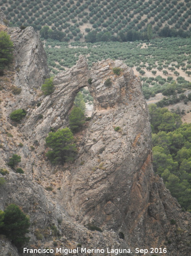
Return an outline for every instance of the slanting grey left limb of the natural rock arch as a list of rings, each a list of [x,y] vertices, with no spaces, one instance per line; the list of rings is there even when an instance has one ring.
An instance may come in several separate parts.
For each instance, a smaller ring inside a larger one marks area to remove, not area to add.
[[[88,73],[86,59],[81,56],[70,70],[57,74],[53,80],[55,91],[44,97],[41,105],[31,111],[31,116],[22,128],[23,131],[40,140],[50,132],[50,127],[65,127],[68,124],[65,119],[73,106],[76,94],[80,88],[88,84]],[[44,116],[41,122],[37,121],[39,114]]]

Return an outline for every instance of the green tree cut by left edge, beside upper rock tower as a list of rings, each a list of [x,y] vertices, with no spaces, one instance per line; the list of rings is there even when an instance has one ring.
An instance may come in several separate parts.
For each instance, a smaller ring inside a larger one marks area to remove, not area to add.
[[[10,35],[5,31],[0,31],[0,74],[3,74],[3,69],[13,59],[13,42],[10,40]]]

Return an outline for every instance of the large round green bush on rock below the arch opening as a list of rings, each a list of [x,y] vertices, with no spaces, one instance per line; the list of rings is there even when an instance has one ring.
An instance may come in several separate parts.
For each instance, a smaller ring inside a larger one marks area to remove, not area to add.
[[[73,161],[77,149],[74,144],[73,134],[68,127],[62,130],[58,129],[57,132],[49,132],[45,140],[46,145],[52,149],[46,154],[50,162],[64,164],[65,162]]]

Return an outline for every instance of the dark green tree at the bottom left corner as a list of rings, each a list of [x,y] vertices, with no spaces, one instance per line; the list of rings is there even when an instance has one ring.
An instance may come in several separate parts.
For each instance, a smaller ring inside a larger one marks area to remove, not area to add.
[[[29,241],[29,238],[25,237],[25,234],[29,233],[29,218],[17,205],[11,204],[7,206],[3,222],[0,233],[6,235],[15,246],[21,248]]]

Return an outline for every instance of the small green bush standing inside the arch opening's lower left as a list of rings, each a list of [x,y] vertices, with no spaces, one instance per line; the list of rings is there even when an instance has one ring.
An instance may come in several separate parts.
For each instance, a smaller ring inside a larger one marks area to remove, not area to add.
[[[74,107],[69,115],[70,129],[72,132],[78,131],[85,122],[83,111],[79,107]]]

